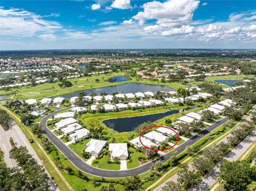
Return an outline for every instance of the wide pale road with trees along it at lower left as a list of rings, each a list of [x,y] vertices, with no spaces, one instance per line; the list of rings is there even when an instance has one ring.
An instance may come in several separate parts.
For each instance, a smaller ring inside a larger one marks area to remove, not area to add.
[[[8,131],[4,131],[2,127],[0,127],[0,147],[1,150],[4,151],[4,161],[6,165],[10,168],[17,167],[17,162],[15,160],[10,159],[9,152],[11,150],[11,144],[9,142],[9,138],[12,137],[14,143],[17,147],[26,146],[29,153],[37,160],[38,164],[43,165],[42,161],[37,156],[36,152],[34,151],[33,147],[28,142],[26,136],[23,134],[19,126],[12,120],[10,123],[11,128]],[[46,170],[46,169],[45,169]],[[46,170],[46,173],[49,173]],[[51,177],[49,175],[49,177]],[[59,190],[59,188],[55,185],[53,180],[51,181],[51,188],[50,190]]]

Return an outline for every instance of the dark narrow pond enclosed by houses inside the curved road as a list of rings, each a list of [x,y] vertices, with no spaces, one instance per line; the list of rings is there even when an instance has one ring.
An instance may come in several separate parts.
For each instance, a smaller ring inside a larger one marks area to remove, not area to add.
[[[156,113],[156,114],[143,115],[143,116],[132,117],[132,118],[109,119],[109,120],[103,121],[103,123],[106,124],[107,127],[115,129],[118,132],[126,132],[126,131],[134,130],[143,122],[146,122],[146,121],[154,122],[158,119],[162,119],[168,115],[179,113],[181,111],[183,110],[171,110],[165,113]]]

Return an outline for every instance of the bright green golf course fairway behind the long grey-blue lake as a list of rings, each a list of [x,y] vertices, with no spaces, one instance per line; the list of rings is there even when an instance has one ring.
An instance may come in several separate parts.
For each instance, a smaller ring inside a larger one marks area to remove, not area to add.
[[[90,77],[81,77],[81,78],[74,78],[69,79],[73,86],[70,88],[60,88],[58,85],[60,82],[53,82],[53,83],[45,83],[39,84],[36,86],[23,86],[19,88],[12,88],[10,90],[0,90],[0,95],[7,95],[12,94],[15,90],[19,90],[14,96],[17,99],[29,99],[29,98],[36,98],[41,99],[44,97],[53,97],[53,96],[61,96],[65,94],[70,94],[74,92],[78,92],[81,90],[86,89],[94,89],[94,88],[102,88],[108,86],[116,86],[116,85],[123,85],[131,82],[142,83],[142,84],[151,84],[151,85],[165,85],[169,86],[175,90],[179,87],[185,87],[180,82],[160,82],[160,81],[151,81],[148,79],[135,79],[132,78],[129,81],[124,82],[107,82],[106,80],[110,77],[116,76],[125,76],[125,72],[120,73],[108,73],[108,74],[100,74],[100,75],[93,75]],[[95,79],[99,79],[99,82],[96,82]]]

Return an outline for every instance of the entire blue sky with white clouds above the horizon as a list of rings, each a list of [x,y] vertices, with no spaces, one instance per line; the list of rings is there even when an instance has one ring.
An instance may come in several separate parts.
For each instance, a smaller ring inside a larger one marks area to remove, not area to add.
[[[255,48],[256,1],[1,1],[1,49]]]

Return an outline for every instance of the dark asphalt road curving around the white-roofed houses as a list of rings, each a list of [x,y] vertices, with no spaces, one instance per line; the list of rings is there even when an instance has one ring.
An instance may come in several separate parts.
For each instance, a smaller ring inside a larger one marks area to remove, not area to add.
[[[123,177],[130,177],[132,175],[140,175],[142,173],[145,173],[150,170],[150,167],[158,160],[161,160],[162,162],[165,162],[168,160],[172,153],[166,153],[165,155],[158,157],[158,159],[155,159],[151,162],[148,162],[140,167],[129,169],[129,170],[103,170],[99,168],[92,167],[89,164],[86,164],[81,157],[79,157],[76,153],[74,153],[68,146],[66,146],[59,138],[57,138],[53,132],[51,132],[46,125],[47,120],[49,120],[53,115],[68,110],[70,107],[67,107],[65,109],[57,110],[53,113],[50,113],[49,115],[46,115],[41,122],[40,125],[42,127],[43,133],[46,135],[47,138],[49,138],[52,143],[57,146],[57,148],[80,170],[89,173],[94,176],[98,177],[106,177],[106,178],[123,178]],[[221,124],[229,120],[228,117],[223,118],[222,120],[218,121],[217,123],[212,124],[211,126],[207,127],[203,131],[199,132],[199,134],[195,135],[194,137],[191,137],[189,140],[187,140],[185,143],[181,144],[176,148],[178,151],[178,154],[183,152],[188,145],[193,145],[196,143],[199,139],[203,138],[206,134],[214,130],[215,128],[219,127]]]

